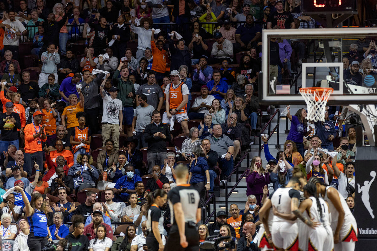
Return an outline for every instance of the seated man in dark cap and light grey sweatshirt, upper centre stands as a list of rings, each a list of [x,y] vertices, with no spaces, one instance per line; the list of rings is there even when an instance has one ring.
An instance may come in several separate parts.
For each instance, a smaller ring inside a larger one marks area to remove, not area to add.
[[[211,58],[208,58],[210,64],[220,64],[224,59],[231,62],[233,56],[233,44],[226,38],[222,37],[221,32],[215,32],[214,36],[216,42],[213,43]]]

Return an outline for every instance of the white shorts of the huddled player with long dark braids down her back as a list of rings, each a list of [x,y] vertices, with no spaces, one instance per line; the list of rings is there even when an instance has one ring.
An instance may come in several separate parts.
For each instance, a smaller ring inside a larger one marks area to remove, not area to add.
[[[321,225],[316,227],[316,229],[310,228],[308,251],[332,251],[333,249],[334,236],[330,226],[323,227]]]

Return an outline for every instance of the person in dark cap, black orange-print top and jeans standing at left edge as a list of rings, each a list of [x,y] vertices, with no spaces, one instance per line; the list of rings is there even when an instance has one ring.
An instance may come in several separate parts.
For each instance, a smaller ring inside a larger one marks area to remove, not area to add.
[[[2,137],[0,140],[0,152],[7,151],[9,145],[14,145],[18,149],[18,132],[21,129],[20,116],[13,112],[14,104],[6,102],[5,113],[0,114],[0,129]]]

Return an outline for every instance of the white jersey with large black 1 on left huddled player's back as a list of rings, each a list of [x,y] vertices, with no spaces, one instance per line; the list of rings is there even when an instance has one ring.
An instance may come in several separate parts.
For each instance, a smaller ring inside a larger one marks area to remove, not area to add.
[[[290,214],[291,211],[291,196],[289,191],[293,189],[291,187],[280,187],[275,190],[271,197],[271,204],[277,209],[279,213]],[[288,221],[286,219],[280,218],[276,215],[273,217],[273,222],[290,222],[294,223],[295,221]]]

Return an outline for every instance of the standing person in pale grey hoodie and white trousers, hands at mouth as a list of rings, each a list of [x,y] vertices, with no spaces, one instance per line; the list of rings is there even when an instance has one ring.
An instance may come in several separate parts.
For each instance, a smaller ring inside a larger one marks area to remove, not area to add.
[[[47,47],[47,51],[42,53],[41,61],[42,61],[42,71],[39,74],[38,78],[38,85],[42,87],[42,85],[47,83],[48,75],[54,74],[55,80],[58,81],[58,69],[57,65],[60,63],[60,56],[59,56],[59,47],[55,48],[55,44],[49,44]]]

